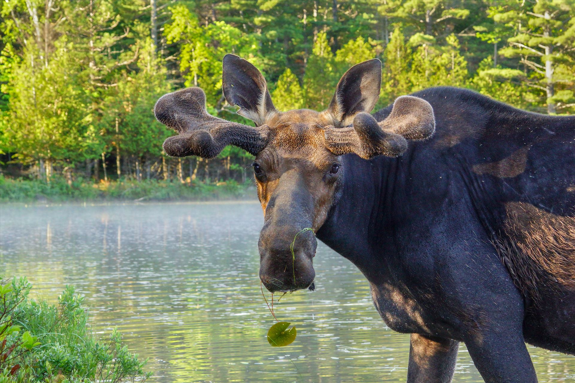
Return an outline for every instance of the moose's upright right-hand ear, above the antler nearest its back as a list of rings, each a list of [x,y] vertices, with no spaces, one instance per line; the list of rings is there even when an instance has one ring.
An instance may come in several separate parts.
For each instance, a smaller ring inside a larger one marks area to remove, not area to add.
[[[339,122],[349,125],[359,112],[369,113],[379,99],[381,90],[381,61],[363,61],[351,67],[339,80],[327,113]]]

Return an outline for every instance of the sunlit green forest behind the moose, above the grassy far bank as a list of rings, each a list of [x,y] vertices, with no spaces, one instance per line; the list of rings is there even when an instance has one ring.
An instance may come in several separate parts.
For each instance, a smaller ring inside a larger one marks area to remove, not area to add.
[[[378,57],[376,110],[432,86],[515,107],[575,112],[575,2],[557,0],[6,0],[0,5],[0,170],[71,185],[250,181],[250,154],[170,158],[163,94],[200,86],[208,110],[234,53],[267,79],[279,110],[324,109],[340,76]]]

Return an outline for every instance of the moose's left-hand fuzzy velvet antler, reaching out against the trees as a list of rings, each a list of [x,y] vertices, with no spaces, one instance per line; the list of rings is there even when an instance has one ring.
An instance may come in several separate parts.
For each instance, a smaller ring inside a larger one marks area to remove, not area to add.
[[[164,141],[168,156],[213,158],[226,145],[255,155],[266,145],[267,126],[252,127],[213,117],[206,110],[206,95],[198,87],[162,96],[154,114],[159,122],[178,132]]]

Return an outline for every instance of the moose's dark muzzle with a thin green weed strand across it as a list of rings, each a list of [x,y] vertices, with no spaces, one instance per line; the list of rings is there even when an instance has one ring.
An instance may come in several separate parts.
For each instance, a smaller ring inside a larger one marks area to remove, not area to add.
[[[269,233],[264,228],[258,245],[259,278],[270,292],[305,289],[312,284],[316,276],[312,258],[317,247],[312,231],[292,229]]]

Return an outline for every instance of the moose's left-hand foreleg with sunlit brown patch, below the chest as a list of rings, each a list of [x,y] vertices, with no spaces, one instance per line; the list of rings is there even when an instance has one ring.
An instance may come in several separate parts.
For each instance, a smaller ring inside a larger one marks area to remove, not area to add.
[[[407,383],[448,383],[453,378],[459,342],[411,334]]]

